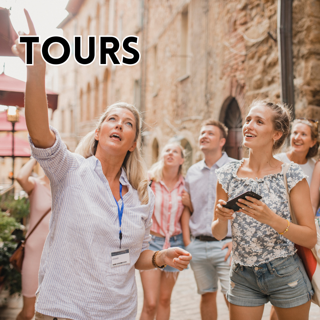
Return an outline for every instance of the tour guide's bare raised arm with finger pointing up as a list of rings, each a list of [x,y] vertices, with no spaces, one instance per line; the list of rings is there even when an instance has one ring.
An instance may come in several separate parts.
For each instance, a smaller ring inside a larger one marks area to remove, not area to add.
[[[36,30],[33,26],[29,13],[24,9],[29,35],[35,36]],[[19,35],[26,35],[19,31]],[[12,52],[25,60],[25,44],[15,41]],[[36,148],[50,148],[56,140],[55,134],[49,128],[48,103],[45,93],[45,62],[41,56],[40,44],[34,44],[33,66],[27,66],[27,85],[25,94],[25,116],[28,132]]]

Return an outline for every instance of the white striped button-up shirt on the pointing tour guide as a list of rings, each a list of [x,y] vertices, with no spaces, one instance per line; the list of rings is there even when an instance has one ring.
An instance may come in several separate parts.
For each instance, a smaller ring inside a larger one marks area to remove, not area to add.
[[[100,161],[71,153],[56,129],[51,148],[35,148],[32,155],[50,179],[52,216],[39,270],[36,311],[74,320],[130,319],[137,313],[134,264],[148,249],[154,208],[150,188],[148,204],[122,170],[122,249],[130,250],[130,264],[111,268],[111,252],[119,250],[116,201]],[[121,207],[121,200],[120,207]]]

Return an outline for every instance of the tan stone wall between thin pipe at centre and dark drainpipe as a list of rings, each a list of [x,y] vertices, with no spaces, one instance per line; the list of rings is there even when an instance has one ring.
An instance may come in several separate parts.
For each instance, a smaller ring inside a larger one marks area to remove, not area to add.
[[[145,101],[146,122],[153,126],[145,132],[148,164],[154,139],[161,148],[173,135],[190,142],[193,162],[197,161],[201,119],[219,119],[230,96],[236,98],[243,117],[253,99],[279,99],[277,43],[268,36],[270,32],[276,37],[276,8],[277,1],[174,1],[171,6],[149,2]],[[188,77],[181,80],[186,10]]]

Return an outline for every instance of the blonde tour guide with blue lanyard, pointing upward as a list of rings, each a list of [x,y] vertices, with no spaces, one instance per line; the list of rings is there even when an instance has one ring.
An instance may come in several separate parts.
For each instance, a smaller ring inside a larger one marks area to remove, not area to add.
[[[25,13],[30,35],[36,35]],[[12,51],[25,59],[18,39]],[[35,45],[34,63],[27,66],[25,116],[32,155],[52,191],[35,318],[134,320],[135,268],[168,264],[183,270],[191,260],[181,248],[148,250],[154,195],[139,149],[139,112],[124,102],[109,106],[76,154],[49,126],[47,108],[45,62]]]

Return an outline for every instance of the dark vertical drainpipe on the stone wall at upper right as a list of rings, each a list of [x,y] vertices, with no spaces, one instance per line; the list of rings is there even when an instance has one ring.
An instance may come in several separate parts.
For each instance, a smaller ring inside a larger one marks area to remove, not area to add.
[[[280,99],[289,105],[294,117],[292,60],[292,0],[278,0],[278,55]]]

